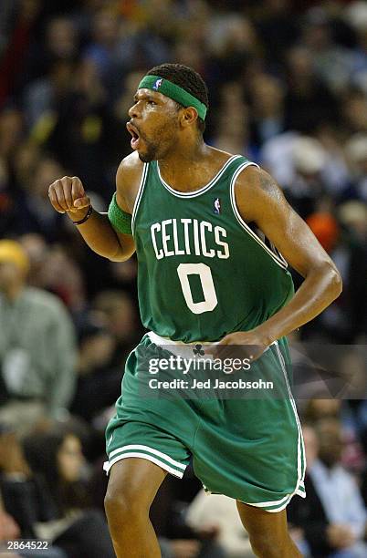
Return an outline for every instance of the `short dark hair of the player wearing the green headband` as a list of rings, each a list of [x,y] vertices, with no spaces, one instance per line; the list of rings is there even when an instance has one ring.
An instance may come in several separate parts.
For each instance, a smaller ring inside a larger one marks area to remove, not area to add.
[[[204,79],[192,67],[184,66],[184,64],[161,64],[160,66],[152,67],[146,75],[169,79],[175,85],[178,85],[199,99],[206,109],[209,108],[208,88]],[[182,107],[180,103],[177,103],[177,105]],[[204,120],[199,117],[197,123],[201,133],[204,133]]]

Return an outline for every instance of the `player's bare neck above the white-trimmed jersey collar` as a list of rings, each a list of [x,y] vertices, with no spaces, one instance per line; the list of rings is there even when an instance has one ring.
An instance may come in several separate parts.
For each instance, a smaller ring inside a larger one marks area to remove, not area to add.
[[[210,176],[213,149],[204,141],[177,146],[172,153],[158,160],[161,175],[174,190],[194,191]]]

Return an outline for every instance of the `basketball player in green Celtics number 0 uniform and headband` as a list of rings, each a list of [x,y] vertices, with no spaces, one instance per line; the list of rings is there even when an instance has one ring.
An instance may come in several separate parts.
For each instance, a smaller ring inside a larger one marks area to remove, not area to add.
[[[285,336],[341,293],[335,265],[271,176],[204,143],[207,108],[193,69],[154,67],[129,110],[133,152],[117,171],[109,214],[92,209],[77,177],[49,187],[54,208],[68,213],[92,250],[115,262],[138,257],[150,333],[126,362],[106,433],[105,503],[119,558],[161,555],[150,506],[165,475],[182,477],[191,457],[207,491],[236,499],[257,556],[300,555],[286,516],[292,496],[304,496],[305,470],[290,393],[194,401],[142,399],[136,388],[144,350],[159,356],[167,344],[220,341],[219,348],[253,346],[254,366],[288,389]],[[304,277],[296,294],[287,262]]]

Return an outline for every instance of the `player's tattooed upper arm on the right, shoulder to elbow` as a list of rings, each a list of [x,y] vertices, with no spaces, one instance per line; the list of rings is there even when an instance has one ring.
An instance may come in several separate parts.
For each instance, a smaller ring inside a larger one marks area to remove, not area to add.
[[[245,221],[256,222],[289,265],[303,277],[315,267],[332,264],[308,224],[288,204],[276,181],[265,171],[254,171],[250,180],[244,181],[243,188],[236,191],[236,202]]]

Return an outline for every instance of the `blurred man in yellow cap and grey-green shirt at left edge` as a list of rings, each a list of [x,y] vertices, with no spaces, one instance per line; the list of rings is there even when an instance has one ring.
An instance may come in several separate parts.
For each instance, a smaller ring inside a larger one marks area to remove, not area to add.
[[[75,388],[75,332],[54,294],[26,286],[20,243],[0,241],[0,422],[22,435],[62,418]]]

